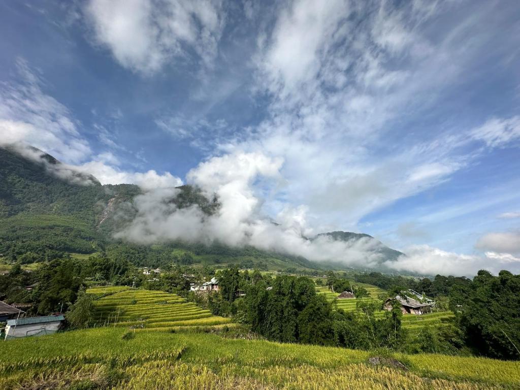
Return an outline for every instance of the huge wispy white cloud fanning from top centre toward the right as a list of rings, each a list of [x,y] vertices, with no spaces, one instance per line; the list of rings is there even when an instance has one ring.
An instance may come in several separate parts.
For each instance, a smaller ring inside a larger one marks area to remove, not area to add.
[[[460,55],[453,36],[428,39],[428,26],[444,10],[422,1],[297,0],[280,7],[254,57],[257,88],[271,97],[269,119],[237,148],[282,157],[284,199],[306,204],[310,219],[330,226],[356,226],[449,180],[471,159],[458,155],[466,135],[385,126],[402,112],[425,109],[432,91],[477,55]],[[393,137],[402,143],[387,148]]]

